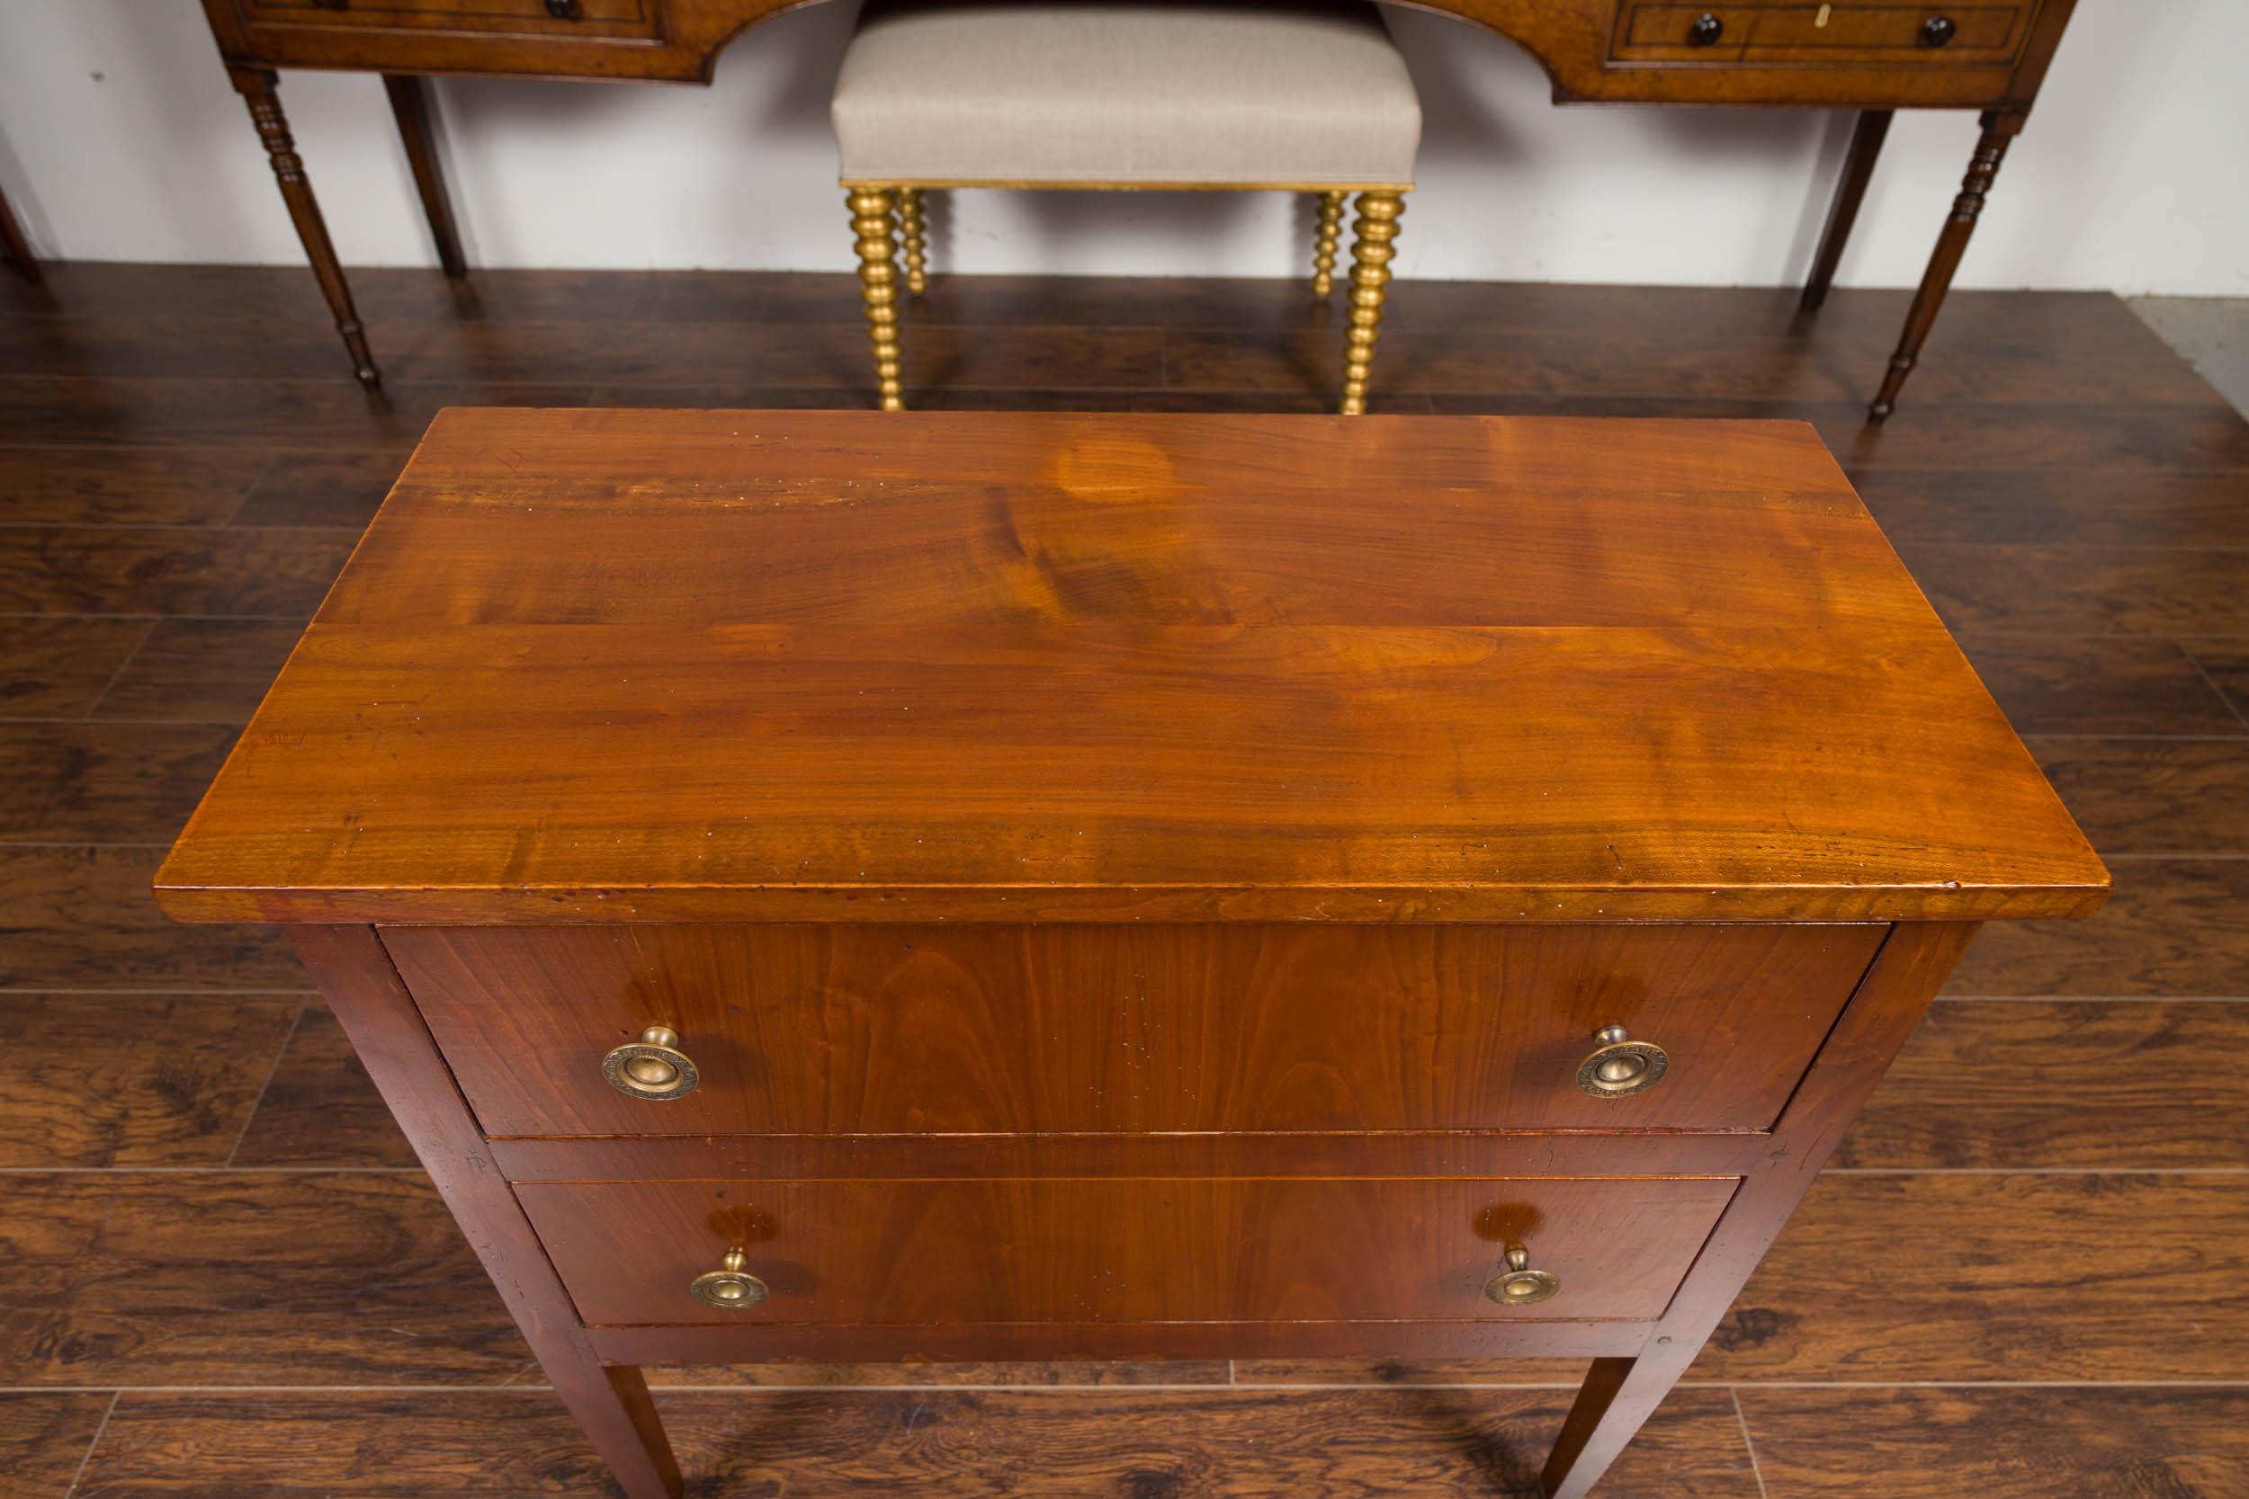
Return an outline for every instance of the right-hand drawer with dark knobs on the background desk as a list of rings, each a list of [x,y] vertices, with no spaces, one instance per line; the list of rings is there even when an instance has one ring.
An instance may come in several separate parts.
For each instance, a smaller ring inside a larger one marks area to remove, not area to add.
[[[1617,61],[1664,63],[1977,63],[2015,56],[2029,4],[1633,4]],[[1707,38],[1707,40],[1698,40]]]

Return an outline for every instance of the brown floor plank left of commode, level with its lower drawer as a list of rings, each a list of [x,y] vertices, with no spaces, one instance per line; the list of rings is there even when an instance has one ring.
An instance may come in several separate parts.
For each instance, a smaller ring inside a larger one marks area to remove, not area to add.
[[[511,1384],[522,1335],[418,1173],[0,1175],[7,1384]]]

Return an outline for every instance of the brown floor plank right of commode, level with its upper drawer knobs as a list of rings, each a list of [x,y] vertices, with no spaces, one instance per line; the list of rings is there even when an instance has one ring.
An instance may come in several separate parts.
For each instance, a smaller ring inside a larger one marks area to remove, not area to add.
[[[2200,1000],[1939,1000],[1835,1164],[2249,1169],[2242,1020]]]

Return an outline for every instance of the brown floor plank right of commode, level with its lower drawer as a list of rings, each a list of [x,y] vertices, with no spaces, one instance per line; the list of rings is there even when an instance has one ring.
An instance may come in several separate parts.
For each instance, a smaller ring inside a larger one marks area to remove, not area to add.
[[[2242,1175],[1828,1175],[1693,1378],[2238,1380],[2245,1245]]]

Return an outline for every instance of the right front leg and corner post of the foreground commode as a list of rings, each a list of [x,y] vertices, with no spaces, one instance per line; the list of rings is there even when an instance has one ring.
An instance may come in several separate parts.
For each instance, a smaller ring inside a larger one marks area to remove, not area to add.
[[[1889,928],[1882,951],[1772,1126],[1772,1171],[1745,1180],[1734,1193],[1640,1357],[1599,1357],[1586,1373],[1541,1474],[1547,1499],[1583,1499],[1687,1373],[1975,930],[1975,921],[1900,921]]]

